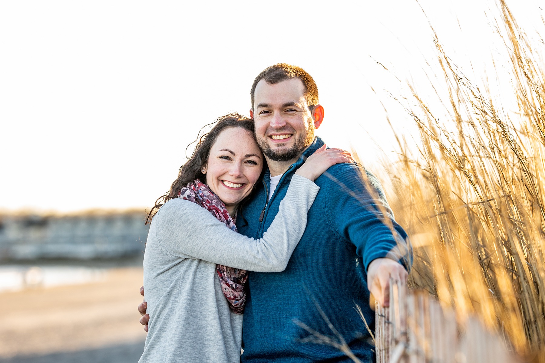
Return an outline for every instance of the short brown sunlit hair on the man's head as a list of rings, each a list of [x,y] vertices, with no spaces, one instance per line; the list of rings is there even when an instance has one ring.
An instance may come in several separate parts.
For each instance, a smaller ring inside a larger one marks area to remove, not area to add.
[[[314,106],[318,104],[318,87],[314,79],[309,75],[304,69],[295,65],[289,65],[286,63],[278,63],[271,65],[270,67],[265,68],[263,72],[254,79],[252,84],[252,89],[250,91],[250,96],[252,98],[252,108],[253,101],[255,99],[254,95],[256,93],[256,87],[259,81],[262,79],[269,84],[280,83],[283,81],[288,81],[288,79],[299,78],[305,86],[305,99],[308,104],[308,108],[312,111]]]

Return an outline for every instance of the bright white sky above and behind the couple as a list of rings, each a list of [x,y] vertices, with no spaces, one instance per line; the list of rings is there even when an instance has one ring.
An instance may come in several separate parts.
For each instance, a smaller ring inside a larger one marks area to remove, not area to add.
[[[377,144],[392,155],[381,102],[398,131],[410,138],[414,127],[373,59],[425,96],[428,21],[413,0],[318,3],[1,2],[0,208],[152,206],[199,128],[248,114],[253,78],[278,62],[316,80],[328,145],[352,144],[370,165]],[[420,4],[457,64],[482,78],[500,45],[485,14],[495,3]],[[526,32],[545,33],[537,0],[508,5]]]

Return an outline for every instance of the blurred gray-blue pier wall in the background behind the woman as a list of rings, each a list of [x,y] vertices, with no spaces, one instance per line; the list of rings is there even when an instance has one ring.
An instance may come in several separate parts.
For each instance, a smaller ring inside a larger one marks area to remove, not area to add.
[[[144,217],[143,211],[0,214],[0,262],[142,255],[149,227]]]

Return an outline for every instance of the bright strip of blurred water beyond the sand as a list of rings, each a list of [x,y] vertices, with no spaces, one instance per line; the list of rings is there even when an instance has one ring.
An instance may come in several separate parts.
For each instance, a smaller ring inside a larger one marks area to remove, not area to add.
[[[106,275],[106,268],[8,264],[0,266],[0,292],[98,282]]]

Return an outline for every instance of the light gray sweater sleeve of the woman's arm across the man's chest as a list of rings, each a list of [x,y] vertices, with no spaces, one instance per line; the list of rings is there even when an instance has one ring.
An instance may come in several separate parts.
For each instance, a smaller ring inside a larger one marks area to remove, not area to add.
[[[307,214],[319,187],[294,175],[280,211],[262,238],[240,235],[205,208],[172,199],[154,218],[159,243],[181,258],[199,259],[258,272],[279,272],[305,231]],[[152,224],[153,226],[153,224]]]

